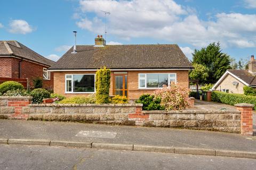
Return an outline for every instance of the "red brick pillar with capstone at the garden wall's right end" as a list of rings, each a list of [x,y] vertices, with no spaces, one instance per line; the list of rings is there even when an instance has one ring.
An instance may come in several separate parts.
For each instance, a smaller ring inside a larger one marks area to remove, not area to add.
[[[238,111],[241,111],[241,134],[253,135],[252,108],[254,105],[240,103],[235,106]]]

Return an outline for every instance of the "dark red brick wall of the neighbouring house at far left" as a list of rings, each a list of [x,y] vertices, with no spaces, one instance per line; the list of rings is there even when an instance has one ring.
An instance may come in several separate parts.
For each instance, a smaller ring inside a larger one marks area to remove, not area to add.
[[[14,57],[0,57],[0,77],[19,78],[19,62],[21,60]],[[32,63],[29,61],[21,62],[21,77],[29,78],[30,88],[33,88],[33,79],[43,77],[43,68],[46,66]],[[51,80],[43,80],[43,88],[53,88],[53,73]]]

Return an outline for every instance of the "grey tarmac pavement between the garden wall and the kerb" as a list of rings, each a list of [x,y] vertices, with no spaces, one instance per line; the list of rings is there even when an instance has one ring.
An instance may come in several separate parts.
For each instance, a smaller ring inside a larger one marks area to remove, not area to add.
[[[109,134],[109,135],[106,135]],[[256,152],[256,137],[241,134],[113,126],[73,122],[0,120],[0,138],[45,139],[159,147],[186,147]]]

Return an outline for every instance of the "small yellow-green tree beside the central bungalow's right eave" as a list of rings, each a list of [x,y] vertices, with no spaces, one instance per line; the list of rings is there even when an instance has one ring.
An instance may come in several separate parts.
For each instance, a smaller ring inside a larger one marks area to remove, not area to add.
[[[189,72],[189,79],[199,80],[200,84],[205,83],[210,70],[202,64],[193,63],[193,66],[195,69]]]

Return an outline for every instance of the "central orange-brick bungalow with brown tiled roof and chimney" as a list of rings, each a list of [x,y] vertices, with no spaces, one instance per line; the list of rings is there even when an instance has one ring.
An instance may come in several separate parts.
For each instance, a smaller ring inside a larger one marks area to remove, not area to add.
[[[138,99],[171,82],[188,87],[188,71],[193,66],[178,45],[104,45],[104,42],[98,36],[95,45],[70,48],[50,67],[54,72],[55,93],[67,97],[94,93],[95,72],[103,66],[111,70],[110,95]]]

